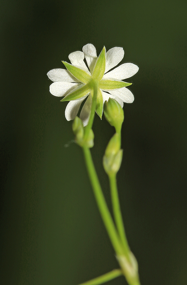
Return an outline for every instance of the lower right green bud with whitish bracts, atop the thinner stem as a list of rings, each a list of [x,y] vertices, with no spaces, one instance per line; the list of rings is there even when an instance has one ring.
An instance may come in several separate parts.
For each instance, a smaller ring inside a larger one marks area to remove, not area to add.
[[[108,175],[118,172],[121,166],[121,160],[123,156],[123,150],[120,149],[119,134],[116,133],[110,139],[105,155],[103,156],[103,167]]]

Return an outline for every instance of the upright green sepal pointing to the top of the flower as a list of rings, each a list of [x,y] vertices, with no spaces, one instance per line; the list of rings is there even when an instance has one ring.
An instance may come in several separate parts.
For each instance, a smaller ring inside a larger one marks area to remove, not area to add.
[[[106,54],[106,49],[104,46],[95,62],[94,70],[92,72],[92,78],[97,79],[98,81],[103,78],[103,75],[105,73],[105,66],[106,66],[105,54]]]

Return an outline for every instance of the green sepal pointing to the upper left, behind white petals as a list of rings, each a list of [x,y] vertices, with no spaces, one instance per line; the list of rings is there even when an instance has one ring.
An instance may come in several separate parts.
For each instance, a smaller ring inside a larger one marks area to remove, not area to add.
[[[86,71],[82,70],[81,68],[78,68],[76,66],[73,66],[72,64],[62,61],[63,64],[66,66],[67,70],[80,82],[82,83],[88,83],[91,80],[91,75],[88,74]]]

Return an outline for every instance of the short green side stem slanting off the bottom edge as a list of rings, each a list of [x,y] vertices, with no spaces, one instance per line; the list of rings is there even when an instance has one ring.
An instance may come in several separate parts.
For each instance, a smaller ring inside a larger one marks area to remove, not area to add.
[[[123,275],[121,269],[114,269],[106,274],[103,274],[97,278],[94,278],[92,280],[89,280],[87,282],[81,283],[80,285],[99,285],[102,283],[105,283],[107,281],[110,281],[118,276]]]

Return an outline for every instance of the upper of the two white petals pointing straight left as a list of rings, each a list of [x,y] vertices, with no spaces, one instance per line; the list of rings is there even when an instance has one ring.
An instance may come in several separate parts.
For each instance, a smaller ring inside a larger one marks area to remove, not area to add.
[[[50,70],[47,73],[47,76],[50,80],[53,82],[63,81],[63,82],[80,82],[78,79],[76,79],[71,73],[62,68],[55,68]]]

